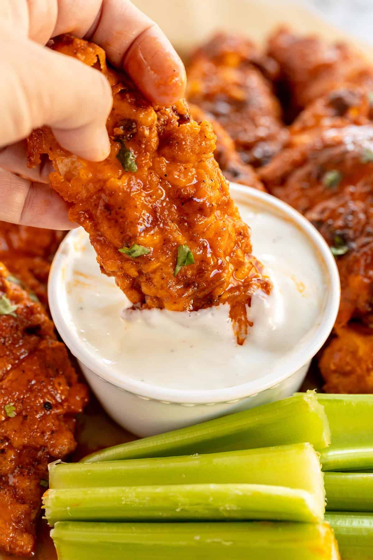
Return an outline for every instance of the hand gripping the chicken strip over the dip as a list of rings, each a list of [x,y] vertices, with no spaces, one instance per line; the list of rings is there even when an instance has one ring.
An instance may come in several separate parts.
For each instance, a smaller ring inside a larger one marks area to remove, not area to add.
[[[33,128],[50,125],[61,146],[88,160],[101,161],[110,151],[106,78],[43,46],[66,32],[101,45],[152,102],[171,105],[183,95],[180,58],[129,0],[0,0],[0,220],[74,227],[49,187],[49,164],[26,166],[25,138]]]

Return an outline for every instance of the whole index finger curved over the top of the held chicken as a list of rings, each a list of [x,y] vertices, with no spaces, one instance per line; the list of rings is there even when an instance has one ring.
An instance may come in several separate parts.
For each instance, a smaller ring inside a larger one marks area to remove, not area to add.
[[[172,105],[183,96],[181,59],[158,25],[129,0],[59,0],[52,36],[67,32],[102,46],[155,104]]]

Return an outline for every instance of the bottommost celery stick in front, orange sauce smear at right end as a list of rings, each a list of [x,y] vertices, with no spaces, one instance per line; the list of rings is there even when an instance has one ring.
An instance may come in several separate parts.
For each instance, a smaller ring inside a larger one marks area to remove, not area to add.
[[[59,522],[59,560],[338,560],[329,524]]]

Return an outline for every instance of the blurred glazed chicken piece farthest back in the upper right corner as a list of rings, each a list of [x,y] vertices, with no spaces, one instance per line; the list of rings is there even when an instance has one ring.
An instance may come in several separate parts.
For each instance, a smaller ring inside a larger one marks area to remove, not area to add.
[[[345,43],[329,44],[281,27],[268,41],[268,55],[280,67],[292,114],[340,86],[373,88],[370,64]]]

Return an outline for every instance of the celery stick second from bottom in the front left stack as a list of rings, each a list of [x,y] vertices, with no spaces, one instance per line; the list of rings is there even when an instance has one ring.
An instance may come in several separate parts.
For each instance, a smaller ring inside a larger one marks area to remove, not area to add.
[[[51,490],[45,517],[57,521],[248,520],[319,522],[310,492],[268,484],[173,484]]]

